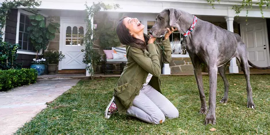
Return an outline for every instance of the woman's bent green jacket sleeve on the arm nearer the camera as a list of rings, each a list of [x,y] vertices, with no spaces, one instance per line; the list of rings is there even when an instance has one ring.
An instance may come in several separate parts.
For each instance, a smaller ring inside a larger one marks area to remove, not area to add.
[[[136,47],[131,47],[130,56],[148,73],[159,77],[161,74],[161,67],[155,44],[148,44],[146,47],[149,54],[146,54],[146,52]]]

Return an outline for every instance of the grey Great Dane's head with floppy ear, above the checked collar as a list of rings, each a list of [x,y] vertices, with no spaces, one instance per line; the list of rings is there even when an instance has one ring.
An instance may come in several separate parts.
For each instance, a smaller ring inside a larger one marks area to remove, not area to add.
[[[154,37],[163,37],[167,32],[167,28],[175,27],[179,20],[181,11],[175,8],[168,8],[161,11],[156,18],[156,22],[149,31]]]

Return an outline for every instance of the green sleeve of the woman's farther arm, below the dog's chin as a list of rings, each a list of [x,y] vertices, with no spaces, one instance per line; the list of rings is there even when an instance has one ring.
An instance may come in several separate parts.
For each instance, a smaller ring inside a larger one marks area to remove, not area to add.
[[[161,51],[161,62],[170,63],[171,62],[171,43],[169,38],[161,41],[163,45],[163,51]]]

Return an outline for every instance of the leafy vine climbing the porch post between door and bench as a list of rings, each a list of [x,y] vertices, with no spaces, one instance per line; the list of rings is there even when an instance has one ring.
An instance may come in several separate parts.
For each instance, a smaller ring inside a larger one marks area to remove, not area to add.
[[[94,45],[94,40],[95,38],[92,38],[93,30],[92,30],[92,18],[94,17],[94,14],[97,13],[98,11],[103,8],[104,10],[108,9],[117,9],[119,8],[119,4],[114,4],[114,5],[109,5],[105,4],[102,2],[99,3],[94,3],[90,7],[85,4],[86,6],[86,11],[87,11],[87,17],[85,19],[86,22],[86,34],[84,36],[84,46],[85,46],[85,51],[84,51],[84,58],[83,62],[88,64],[86,67],[86,70],[88,70],[91,79],[94,79],[94,74],[96,73],[96,68],[98,63],[101,60],[101,55],[99,54],[98,51],[94,50],[93,45]],[[94,36],[93,36],[94,37]]]

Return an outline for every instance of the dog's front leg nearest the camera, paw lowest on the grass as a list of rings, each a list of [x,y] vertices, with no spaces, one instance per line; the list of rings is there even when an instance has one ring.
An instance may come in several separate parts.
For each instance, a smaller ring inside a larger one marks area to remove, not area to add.
[[[217,90],[217,66],[210,65],[209,69],[209,111],[205,118],[205,125],[216,124],[216,90]]]

